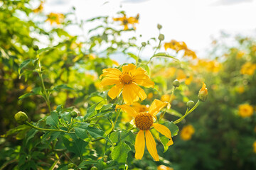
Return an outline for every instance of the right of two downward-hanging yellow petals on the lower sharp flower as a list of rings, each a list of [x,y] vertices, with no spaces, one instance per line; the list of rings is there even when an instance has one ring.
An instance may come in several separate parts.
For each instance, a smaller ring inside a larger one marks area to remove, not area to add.
[[[146,149],[148,149],[149,154],[151,154],[151,156],[154,158],[155,161],[159,161],[159,156],[157,154],[156,142],[154,140],[154,137],[152,136],[149,130],[145,131],[145,135],[146,135]]]

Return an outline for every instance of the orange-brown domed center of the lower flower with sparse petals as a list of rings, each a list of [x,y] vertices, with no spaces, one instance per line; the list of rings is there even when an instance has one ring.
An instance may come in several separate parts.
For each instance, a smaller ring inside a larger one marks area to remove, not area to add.
[[[153,125],[153,116],[147,112],[141,112],[135,117],[134,123],[140,130],[149,130]]]

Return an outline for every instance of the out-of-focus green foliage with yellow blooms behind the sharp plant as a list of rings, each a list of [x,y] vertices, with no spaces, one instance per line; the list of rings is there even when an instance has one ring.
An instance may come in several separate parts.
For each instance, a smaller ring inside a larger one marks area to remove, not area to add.
[[[75,106],[80,115],[85,115],[89,106],[102,100],[100,95],[106,97],[99,92],[105,89],[99,86],[98,77],[102,69],[119,66],[111,56],[119,55],[136,62],[137,54],[132,51],[142,50],[136,44],[136,37],[122,38],[123,33],[134,32],[139,15],[128,23],[123,11],[117,14],[122,17],[114,20],[102,16],[78,21],[72,12],[45,14],[43,1],[36,2],[38,8],[32,8],[29,0],[0,1],[0,164],[6,165],[6,169],[17,169],[17,159],[25,159],[22,139],[34,135],[26,135],[26,126],[19,127],[21,132],[15,128],[14,114],[24,111],[36,122],[49,113],[41,96],[40,77],[35,72],[34,45],[48,47],[41,52],[40,60],[43,80],[50,93],[50,108],[60,104],[65,108]],[[66,31],[70,26],[83,30],[83,23],[95,21],[99,21],[99,25],[84,35],[73,36]],[[122,26],[116,29],[119,23]],[[256,169],[256,146],[253,145],[256,141],[256,40],[240,35],[233,38],[233,45],[228,45],[225,41],[228,38],[223,34],[220,40],[213,40],[208,56],[203,59],[196,57],[184,42],[166,40],[166,45],[162,44],[166,52],[183,57],[180,62],[165,58],[149,62],[145,69],[155,88],[145,89],[148,98],[141,104],[150,104],[155,98],[169,101],[174,79],[178,79],[181,86],[174,92],[167,120],[181,117],[187,101],[197,101],[202,81],[207,84],[209,97],[178,125],[180,130],[174,137],[174,145],[167,152],[163,153],[164,148],[158,147],[159,156],[165,161],[153,162],[149,154],[135,160],[129,152],[129,169],[171,169],[167,166],[177,170]],[[156,49],[156,38],[146,45]],[[24,66],[26,69],[21,69],[25,60],[29,61]],[[141,59],[139,62],[146,63]],[[129,118],[123,117],[122,120],[129,122]],[[154,135],[159,138],[156,132]],[[44,152],[37,150],[31,154],[34,159],[31,169],[49,164],[44,160],[47,157]],[[103,159],[97,154],[92,156]],[[36,164],[37,159],[45,163]]]

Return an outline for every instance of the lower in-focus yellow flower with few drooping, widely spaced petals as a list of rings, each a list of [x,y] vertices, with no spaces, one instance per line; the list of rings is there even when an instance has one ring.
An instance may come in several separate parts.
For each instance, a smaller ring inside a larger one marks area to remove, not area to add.
[[[162,135],[168,137],[170,140],[166,144],[167,146],[173,145],[174,142],[171,139],[171,131],[166,126],[161,125],[159,123],[154,123],[154,116],[161,111],[164,106],[169,105],[168,102],[162,102],[157,99],[153,101],[151,106],[149,107],[149,112],[140,112],[138,113],[132,107],[128,105],[117,105],[116,108],[121,108],[122,111],[131,115],[134,120],[132,122],[134,125],[139,128],[138,135],[135,140],[135,158],[142,159],[145,149],[145,140],[146,140],[146,148],[149,151],[149,154],[154,158],[155,161],[159,161],[159,156],[156,150],[156,142],[151,132],[150,128],[153,126],[157,131],[159,131]],[[146,139],[145,139],[146,138]]]

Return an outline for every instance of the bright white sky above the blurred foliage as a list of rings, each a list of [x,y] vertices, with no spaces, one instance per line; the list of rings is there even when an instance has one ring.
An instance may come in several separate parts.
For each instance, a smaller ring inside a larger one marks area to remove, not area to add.
[[[256,0],[48,0],[44,11],[66,13],[73,6],[82,20],[117,17],[118,11],[126,11],[127,16],[139,13],[136,34],[143,36],[138,44],[158,37],[156,25],[160,23],[165,42],[184,41],[199,57],[206,55],[220,31],[248,36],[256,33]]]

